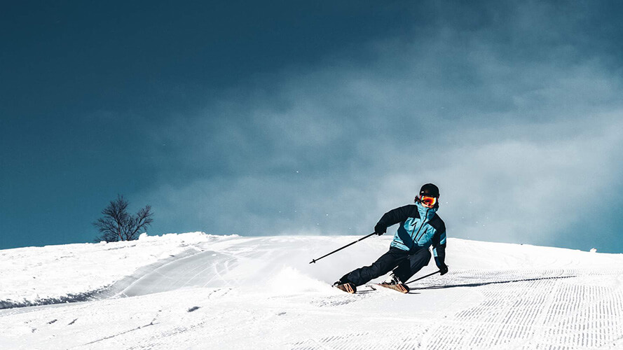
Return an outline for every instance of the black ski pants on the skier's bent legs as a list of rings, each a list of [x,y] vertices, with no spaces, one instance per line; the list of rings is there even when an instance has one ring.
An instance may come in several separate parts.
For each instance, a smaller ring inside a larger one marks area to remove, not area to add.
[[[390,250],[381,255],[372,265],[360,267],[348,274],[345,274],[340,281],[342,283],[353,283],[361,286],[377,277],[387,274],[392,269],[394,274],[402,281],[406,282],[420,271],[422,267],[428,265],[430,261],[430,251],[427,248],[416,248],[411,251],[403,251],[400,248],[390,247]]]

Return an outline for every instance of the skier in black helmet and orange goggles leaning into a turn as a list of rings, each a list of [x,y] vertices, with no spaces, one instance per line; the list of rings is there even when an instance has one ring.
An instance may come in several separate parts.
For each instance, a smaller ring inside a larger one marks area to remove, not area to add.
[[[374,226],[374,233],[383,235],[391,225],[400,223],[390,250],[381,255],[370,266],[360,267],[342,276],[334,283],[336,288],[348,293],[355,293],[361,286],[372,279],[392,271],[381,286],[407,293],[406,282],[413,274],[428,265],[432,245],[434,262],[440,274],[446,274],[446,225],[437,215],[439,209],[439,188],[427,183],[420,188],[415,204],[392,209],[385,213]]]

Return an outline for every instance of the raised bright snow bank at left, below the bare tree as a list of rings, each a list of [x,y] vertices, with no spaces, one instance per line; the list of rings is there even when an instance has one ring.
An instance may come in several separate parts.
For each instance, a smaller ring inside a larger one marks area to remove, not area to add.
[[[111,244],[66,244],[0,251],[0,308],[85,301],[114,283],[167,260],[197,252],[193,244],[217,239],[202,232]],[[62,279],[60,279],[62,276]]]

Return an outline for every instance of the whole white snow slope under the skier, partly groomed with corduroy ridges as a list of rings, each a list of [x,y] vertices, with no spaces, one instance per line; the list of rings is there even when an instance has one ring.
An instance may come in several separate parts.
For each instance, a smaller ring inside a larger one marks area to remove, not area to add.
[[[0,305],[13,307],[0,348],[623,349],[623,254],[449,239],[445,276],[349,295],[330,284],[389,235],[308,262],[356,238],[196,232],[0,251]]]

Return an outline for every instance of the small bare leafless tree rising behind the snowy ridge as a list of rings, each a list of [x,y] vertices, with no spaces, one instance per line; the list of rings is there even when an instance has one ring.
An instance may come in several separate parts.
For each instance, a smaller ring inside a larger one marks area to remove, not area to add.
[[[123,195],[117,195],[108,207],[102,210],[103,218],[97,219],[93,225],[101,236],[95,241],[132,241],[138,239],[142,230],[153,221],[151,207],[146,205],[135,216],[128,214],[128,201]]]

